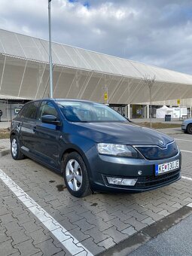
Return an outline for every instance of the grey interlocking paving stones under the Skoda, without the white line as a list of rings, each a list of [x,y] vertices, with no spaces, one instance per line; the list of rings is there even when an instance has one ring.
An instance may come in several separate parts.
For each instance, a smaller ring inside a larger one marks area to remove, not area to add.
[[[187,180],[142,194],[100,193],[78,199],[65,187],[58,190],[61,175],[32,160],[14,161],[8,154],[1,157],[1,169],[94,255],[192,202]],[[69,254],[1,180],[0,230],[4,256]]]

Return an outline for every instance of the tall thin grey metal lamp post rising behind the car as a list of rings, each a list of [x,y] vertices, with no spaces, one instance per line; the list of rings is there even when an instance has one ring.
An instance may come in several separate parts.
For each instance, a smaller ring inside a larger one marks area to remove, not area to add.
[[[51,0],[48,0],[48,19],[49,19],[49,62],[50,62],[50,98],[53,98],[53,64],[52,64],[52,54],[51,54],[50,2],[51,2]]]

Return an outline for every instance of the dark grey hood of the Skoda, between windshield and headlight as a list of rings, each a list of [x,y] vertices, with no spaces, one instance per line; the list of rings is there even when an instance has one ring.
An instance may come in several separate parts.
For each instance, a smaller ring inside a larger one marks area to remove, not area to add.
[[[159,145],[166,148],[166,144],[173,139],[157,130],[138,126],[132,123],[76,123],[76,131],[93,141],[126,144],[126,145]]]

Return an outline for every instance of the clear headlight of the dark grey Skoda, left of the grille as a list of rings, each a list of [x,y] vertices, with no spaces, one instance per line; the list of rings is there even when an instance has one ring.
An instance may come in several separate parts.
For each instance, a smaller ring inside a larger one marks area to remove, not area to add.
[[[138,157],[138,152],[131,146],[99,143],[97,144],[99,154],[109,154],[118,157]]]

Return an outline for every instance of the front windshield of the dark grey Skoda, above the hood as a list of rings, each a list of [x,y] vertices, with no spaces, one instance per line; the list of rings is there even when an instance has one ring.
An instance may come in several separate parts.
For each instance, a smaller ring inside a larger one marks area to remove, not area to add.
[[[62,113],[70,122],[126,122],[113,109],[95,102],[58,101]]]

